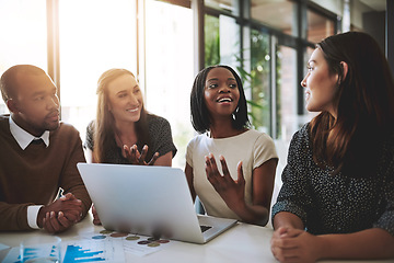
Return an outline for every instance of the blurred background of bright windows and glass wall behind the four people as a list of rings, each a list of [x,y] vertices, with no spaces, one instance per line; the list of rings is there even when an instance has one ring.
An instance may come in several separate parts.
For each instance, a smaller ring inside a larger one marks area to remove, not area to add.
[[[393,68],[393,2],[0,0],[0,75],[16,64],[45,69],[59,90],[61,119],[84,140],[95,118],[100,75],[129,69],[146,108],[170,121],[178,149],[173,165],[183,169],[196,135],[189,117],[194,77],[206,66],[230,65],[243,79],[253,127],[270,135],[286,156],[292,134],[314,116],[304,108],[300,85],[314,44],[363,31]],[[7,112],[1,101],[0,113]]]

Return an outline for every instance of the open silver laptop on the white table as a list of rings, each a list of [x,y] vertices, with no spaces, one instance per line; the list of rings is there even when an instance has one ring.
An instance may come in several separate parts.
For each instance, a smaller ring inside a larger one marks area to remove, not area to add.
[[[178,168],[78,163],[108,230],[206,243],[235,219],[196,214],[185,173]]]

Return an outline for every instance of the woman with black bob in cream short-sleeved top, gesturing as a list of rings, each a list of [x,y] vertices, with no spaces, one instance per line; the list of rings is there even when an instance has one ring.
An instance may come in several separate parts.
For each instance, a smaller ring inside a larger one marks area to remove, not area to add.
[[[201,70],[193,85],[190,111],[200,134],[186,153],[193,199],[198,195],[210,216],[265,226],[278,156],[268,135],[247,128],[246,99],[236,72],[221,65]]]

